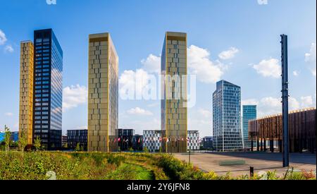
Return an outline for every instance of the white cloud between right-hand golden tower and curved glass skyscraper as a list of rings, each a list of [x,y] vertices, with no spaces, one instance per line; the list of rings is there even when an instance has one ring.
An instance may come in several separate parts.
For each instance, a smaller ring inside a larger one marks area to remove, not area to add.
[[[224,66],[219,61],[216,63],[211,61],[209,51],[194,45],[191,45],[187,51],[191,74],[197,75],[197,79],[202,83],[216,83],[220,80]]]

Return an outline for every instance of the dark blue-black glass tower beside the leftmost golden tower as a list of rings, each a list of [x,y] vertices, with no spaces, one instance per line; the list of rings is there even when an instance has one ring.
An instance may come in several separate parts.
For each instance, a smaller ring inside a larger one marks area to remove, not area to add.
[[[35,30],[34,138],[46,150],[61,147],[63,51],[53,30]]]

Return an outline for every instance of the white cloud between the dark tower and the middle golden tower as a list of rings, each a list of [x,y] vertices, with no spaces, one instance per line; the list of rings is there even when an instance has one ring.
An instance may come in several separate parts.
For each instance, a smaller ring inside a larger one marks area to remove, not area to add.
[[[85,104],[88,99],[88,90],[85,86],[71,85],[63,89],[63,110],[73,109]]]

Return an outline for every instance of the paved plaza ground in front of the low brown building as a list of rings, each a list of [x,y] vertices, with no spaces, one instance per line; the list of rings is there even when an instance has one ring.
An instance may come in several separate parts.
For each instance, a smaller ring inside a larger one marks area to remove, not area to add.
[[[185,162],[189,161],[189,154],[174,154]],[[219,162],[240,161],[245,164],[233,166],[220,166]],[[225,175],[229,171],[232,176],[246,175],[250,173],[250,166],[254,167],[254,173],[259,171],[276,171],[278,176],[285,174],[288,168],[282,167],[282,153],[271,152],[206,152],[191,153],[191,162],[202,171],[214,171],[218,175]],[[316,154],[292,153],[290,154],[290,167],[295,171],[315,171]]]

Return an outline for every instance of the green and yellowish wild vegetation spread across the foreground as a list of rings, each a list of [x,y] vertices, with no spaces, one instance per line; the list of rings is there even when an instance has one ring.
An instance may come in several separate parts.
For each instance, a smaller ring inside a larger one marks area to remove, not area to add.
[[[278,177],[232,177],[204,173],[170,154],[101,152],[1,152],[0,180],[43,180],[54,171],[58,180],[309,180],[313,172],[289,171]]]

